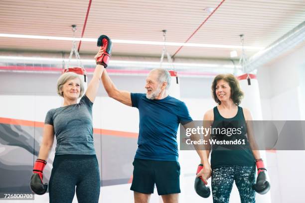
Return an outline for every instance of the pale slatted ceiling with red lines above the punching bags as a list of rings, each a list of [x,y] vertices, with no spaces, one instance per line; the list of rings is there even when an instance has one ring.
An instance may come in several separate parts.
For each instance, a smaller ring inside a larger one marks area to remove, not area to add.
[[[185,42],[221,0],[92,0],[83,37],[106,34],[116,40]],[[1,0],[0,33],[81,37],[89,0]],[[304,0],[225,0],[189,43],[266,47],[305,19]],[[0,37],[0,50],[69,52],[71,41]],[[167,46],[173,55],[179,46]],[[80,54],[95,53],[96,42],[82,42]],[[232,48],[183,47],[175,57],[229,58]],[[236,49],[241,53],[240,49]],[[246,50],[252,56],[258,50]],[[114,43],[116,56],[160,56],[162,45]]]

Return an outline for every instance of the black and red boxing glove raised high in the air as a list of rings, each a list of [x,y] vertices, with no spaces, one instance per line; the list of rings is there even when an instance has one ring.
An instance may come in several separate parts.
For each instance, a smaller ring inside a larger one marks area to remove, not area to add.
[[[102,64],[105,68],[107,68],[108,62],[109,62],[110,57],[111,57],[111,50],[112,50],[111,39],[106,35],[101,35],[98,38],[97,46],[98,47],[100,47],[100,46],[104,47],[103,48],[104,54],[96,60],[96,64]]]

